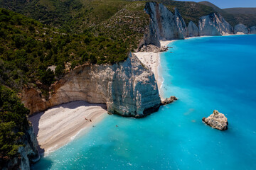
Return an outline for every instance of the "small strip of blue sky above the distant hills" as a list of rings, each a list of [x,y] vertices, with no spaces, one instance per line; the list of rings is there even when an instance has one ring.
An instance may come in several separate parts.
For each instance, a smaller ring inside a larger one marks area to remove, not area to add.
[[[178,0],[178,1],[205,1],[205,0]],[[250,7],[256,8],[256,0],[207,0],[220,8]]]

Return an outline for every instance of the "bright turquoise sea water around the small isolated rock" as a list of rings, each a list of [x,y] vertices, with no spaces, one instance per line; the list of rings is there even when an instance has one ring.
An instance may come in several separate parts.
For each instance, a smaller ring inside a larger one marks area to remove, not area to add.
[[[109,115],[33,169],[256,169],[256,35],[169,46],[162,91],[178,101],[143,119]],[[214,109],[227,131],[202,123]]]

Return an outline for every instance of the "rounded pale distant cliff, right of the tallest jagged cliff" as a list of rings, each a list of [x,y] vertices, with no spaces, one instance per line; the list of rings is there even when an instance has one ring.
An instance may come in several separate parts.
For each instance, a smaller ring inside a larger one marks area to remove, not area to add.
[[[199,20],[199,35],[227,35],[233,34],[233,27],[220,16],[220,14],[210,14],[202,16]]]

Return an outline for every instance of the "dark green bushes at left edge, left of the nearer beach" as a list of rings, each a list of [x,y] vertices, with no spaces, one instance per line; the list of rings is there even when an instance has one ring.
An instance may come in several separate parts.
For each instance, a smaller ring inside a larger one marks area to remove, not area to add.
[[[17,157],[21,138],[28,129],[26,115],[29,113],[14,91],[0,86],[0,164]]]

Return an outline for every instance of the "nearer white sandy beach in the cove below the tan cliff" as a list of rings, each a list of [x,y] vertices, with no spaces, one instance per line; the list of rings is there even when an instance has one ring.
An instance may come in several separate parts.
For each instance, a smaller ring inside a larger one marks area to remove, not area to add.
[[[80,130],[92,128],[106,115],[103,104],[74,101],[49,108],[28,119],[33,124],[41,152],[47,153],[70,142]]]

